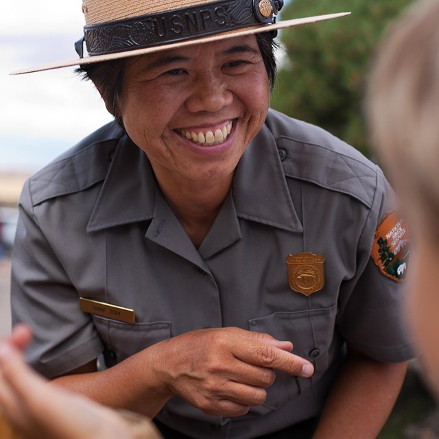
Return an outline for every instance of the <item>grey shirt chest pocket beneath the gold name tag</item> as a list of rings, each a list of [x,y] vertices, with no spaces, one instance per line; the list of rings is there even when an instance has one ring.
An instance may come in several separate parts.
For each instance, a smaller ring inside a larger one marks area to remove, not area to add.
[[[124,323],[93,316],[95,326],[105,344],[107,367],[171,337],[171,322]]]

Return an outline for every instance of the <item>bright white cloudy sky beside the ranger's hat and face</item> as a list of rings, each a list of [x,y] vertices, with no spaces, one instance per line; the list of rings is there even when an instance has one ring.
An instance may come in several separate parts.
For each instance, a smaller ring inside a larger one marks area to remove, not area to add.
[[[75,58],[81,0],[14,0],[0,14],[0,171],[36,170],[111,120],[93,86],[73,68],[10,76]]]

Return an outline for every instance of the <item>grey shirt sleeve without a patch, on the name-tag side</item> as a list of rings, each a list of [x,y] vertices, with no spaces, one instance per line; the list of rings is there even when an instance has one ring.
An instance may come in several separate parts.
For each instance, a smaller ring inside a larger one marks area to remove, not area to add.
[[[91,316],[79,308],[79,295],[56,257],[34,213],[27,181],[21,194],[12,257],[12,324],[34,333],[27,361],[46,377],[63,375],[103,351]],[[59,227],[62,233],[62,227]]]

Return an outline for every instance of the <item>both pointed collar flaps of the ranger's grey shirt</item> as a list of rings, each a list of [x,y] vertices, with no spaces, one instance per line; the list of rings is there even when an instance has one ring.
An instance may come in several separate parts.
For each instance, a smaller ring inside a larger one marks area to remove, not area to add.
[[[141,222],[154,217],[156,182],[146,154],[123,136],[112,159],[87,231]],[[276,141],[267,126],[241,157],[233,179],[238,217],[302,232],[285,180]]]

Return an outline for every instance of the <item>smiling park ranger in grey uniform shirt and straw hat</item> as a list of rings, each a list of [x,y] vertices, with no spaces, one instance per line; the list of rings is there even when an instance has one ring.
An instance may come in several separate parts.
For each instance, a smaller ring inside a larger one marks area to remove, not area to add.
[[[115,117],[23,189],[27,359],[165,437],[372,438],[412,356],[383,174],[269,110],[276,29],[340,14],[282,3],[84,0],[80,58],[19,72],[79,64]]]

